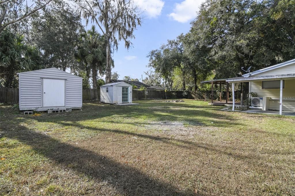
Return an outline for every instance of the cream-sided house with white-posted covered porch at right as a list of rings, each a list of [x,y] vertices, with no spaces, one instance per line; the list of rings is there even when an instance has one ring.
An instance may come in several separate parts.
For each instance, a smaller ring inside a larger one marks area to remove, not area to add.
[[[278,110],[295,112],[295,59],[271,67],[266,67],[242,75],[229,78],[226,82],[232,84],[249,82],[249,93],[253,92],[258,98],[252,97],[253,108],[262,110]],[[232,110],[235,109],[235,94],[232,93]]]

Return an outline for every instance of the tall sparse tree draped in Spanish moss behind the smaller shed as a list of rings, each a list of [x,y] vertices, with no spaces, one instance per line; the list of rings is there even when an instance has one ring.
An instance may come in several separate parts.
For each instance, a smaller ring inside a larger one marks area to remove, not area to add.
[[[119,42],[129,49],[134,39],[134,31],[137,25],[141,25],[141,12],[137,4],[132,0],[76,0],[83,17],[88,23],[89,19],[95,22],[104,34],[106,44],[106,83],[111,82],[113,67],[111,51],[118,50]]]

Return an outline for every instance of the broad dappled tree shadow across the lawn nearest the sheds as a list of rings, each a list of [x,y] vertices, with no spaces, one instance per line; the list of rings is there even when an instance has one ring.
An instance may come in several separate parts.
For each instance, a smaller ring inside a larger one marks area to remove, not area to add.
[[[171,109],[171,108],[150,108],[150,107],[128,107],[119,106],[114,107],[112,105],[99,107],[92,106],[86,107],[83,111],[73,111],[66,114],[45,114],[40,117],[26,116],[26,119],[35,119],[39,122],[54,122],[59,123],[61,121],[77,122],[85,120],[98,120],[102,121],[102,118],[116,119],[119,116],[121,119],[136,118],[134,125],[148,124],[150,120],[156,122],[183,122],[190,125],[207,124],[212,127],[233,127],[244,125],[241,123],[243,119],[236,119],[230,114],[217,115],[216,112],[211,110],[186,110]],[[237,122],[240,121],[240,122]],[[141,121],[141,122],[139,122]],[[104,121],[105,122],[105,121]],[[109,120],[112,122],[112,120]],[[132,124],[132,123],[130,123]]]

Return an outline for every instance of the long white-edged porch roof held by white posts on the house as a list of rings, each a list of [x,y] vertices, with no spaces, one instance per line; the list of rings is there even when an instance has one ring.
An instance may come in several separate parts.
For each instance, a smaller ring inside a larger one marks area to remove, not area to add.
[[[261,80],[277,80],[277,79],[294,79],[295,74],[282,74],[282,75],[271,75],[271,76],[256,76],[256,77],[236,77],[226,79],[226,82],[251,82],[251,81],[261,81]]]

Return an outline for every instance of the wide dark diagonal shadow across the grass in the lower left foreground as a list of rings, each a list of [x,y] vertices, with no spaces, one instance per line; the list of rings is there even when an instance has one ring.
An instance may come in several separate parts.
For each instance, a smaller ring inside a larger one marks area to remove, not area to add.
[[[103,157],[98,153],[60,142],[46,134],[28,131],[7,131],[5,137],[30,145],[35,152],[73,170],[90,175],[109,184],[123,195],[193,195],[192,190],[180,191],[177,187],[151,178],[143,172]],[[97,193],[98,194],[98,193]]]

